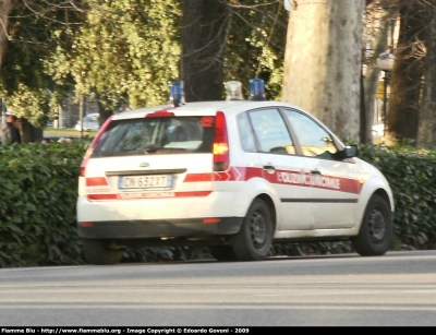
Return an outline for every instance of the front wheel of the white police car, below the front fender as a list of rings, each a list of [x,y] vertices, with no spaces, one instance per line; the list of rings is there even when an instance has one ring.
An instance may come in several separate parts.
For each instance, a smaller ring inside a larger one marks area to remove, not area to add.
[[[392,212],[389,203],[373,195],[366,205],[359,235],[351,239],[354,250],[363,256],[385,254],[392,241]]]

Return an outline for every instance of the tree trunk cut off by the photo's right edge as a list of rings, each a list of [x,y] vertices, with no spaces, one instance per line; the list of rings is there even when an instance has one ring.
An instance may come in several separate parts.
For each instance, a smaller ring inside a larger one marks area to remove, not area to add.
[[[425,56],[425,84],[420,110],[417,145],[434,148],[436,145],[436,0],[427,0],[427,53]]]

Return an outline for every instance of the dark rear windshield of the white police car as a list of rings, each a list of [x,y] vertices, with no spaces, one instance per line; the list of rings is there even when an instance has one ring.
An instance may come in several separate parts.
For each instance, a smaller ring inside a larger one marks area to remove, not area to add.
[[[211,153],[215,117],[113,120],[93,157]]]

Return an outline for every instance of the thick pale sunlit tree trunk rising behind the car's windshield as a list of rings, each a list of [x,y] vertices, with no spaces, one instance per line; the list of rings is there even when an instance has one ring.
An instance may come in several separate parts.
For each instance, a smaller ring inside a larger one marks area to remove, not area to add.
[[[294,0],[293,4],[282,100],[307,110],[342,140],[359,141],[365,2]]]

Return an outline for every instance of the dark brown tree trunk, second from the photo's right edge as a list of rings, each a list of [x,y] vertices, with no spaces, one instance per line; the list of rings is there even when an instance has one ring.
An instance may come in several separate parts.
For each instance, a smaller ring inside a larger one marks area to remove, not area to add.
[[[385,140],[391,145],[416,140],[423,63],[421,48],[426,39],[424,8],[417,0],[400,0],[400,34],[391,73]]]

